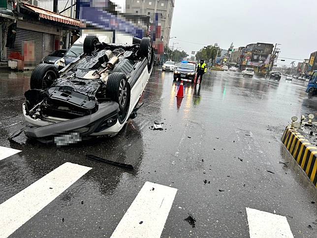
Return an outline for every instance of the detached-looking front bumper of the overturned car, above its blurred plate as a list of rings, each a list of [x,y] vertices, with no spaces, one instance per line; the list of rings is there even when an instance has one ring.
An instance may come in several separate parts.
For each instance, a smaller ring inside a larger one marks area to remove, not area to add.
[[[34,119],[27,114],[26,105],[23,103],[24,118],[32,126],[27,127],[24,132],[28,137],[42,140],[73,132],[79,133],[82,137],[116,134],[123,127],[118,121],[118,112],[117,102],[105,102],[99,105],[95,113],[75,119],[55,117]]]

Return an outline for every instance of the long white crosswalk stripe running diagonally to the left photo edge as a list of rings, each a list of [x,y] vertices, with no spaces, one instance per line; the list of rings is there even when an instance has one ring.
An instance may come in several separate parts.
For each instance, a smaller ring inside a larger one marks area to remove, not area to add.
[[[0,204],[0,238],[6,238],[92,168],[64,163]]]

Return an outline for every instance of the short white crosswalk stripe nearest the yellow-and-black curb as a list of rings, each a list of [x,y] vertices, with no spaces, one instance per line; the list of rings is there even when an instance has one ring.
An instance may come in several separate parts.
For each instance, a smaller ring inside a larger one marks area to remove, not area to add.
[[[246,207],[250,238],[293,238],[285,216]]]

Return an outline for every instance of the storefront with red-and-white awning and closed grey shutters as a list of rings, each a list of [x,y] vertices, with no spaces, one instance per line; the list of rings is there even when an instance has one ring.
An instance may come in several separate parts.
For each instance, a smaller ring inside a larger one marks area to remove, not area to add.
[[[79,29],[78,20],[27,3],[19,2],[19,6],[15,41],[6,47],[6,59],[22,60],[25,68],[33,68],[49,53],[67,45],[63,40]]]

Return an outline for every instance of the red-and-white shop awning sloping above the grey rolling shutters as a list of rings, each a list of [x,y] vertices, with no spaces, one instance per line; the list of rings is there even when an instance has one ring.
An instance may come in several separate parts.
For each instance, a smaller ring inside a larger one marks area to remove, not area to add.
[[[61,23],[76,26],[76,27],[80,27],[79,20],[76,20],[76,19],[73,19],[70,17],[66,17],[66,16],[63,16],[61,14],[57,14],[55,12],[48,11],[48,10],[45,10],[45,9],[37,7],[37,6],[33,6],[31,4],[28,4],[28,3],[23,2],[22,4],[24,7],[30,9],[31,11],[38,13],[40,18],[48,19],[48,20],[55,21],[55,22],[61,22]]]

